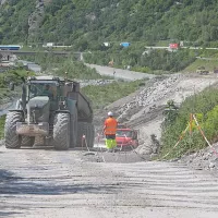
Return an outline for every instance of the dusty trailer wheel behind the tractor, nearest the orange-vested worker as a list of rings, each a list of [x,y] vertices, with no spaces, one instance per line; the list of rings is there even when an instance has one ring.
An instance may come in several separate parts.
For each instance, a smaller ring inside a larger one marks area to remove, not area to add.
[[[78,122],[77,126],[77,147],[86,147],[86,143],[87,147],[93,147],[95,137],[94,125],[87,122]],[[83,140],[83,135],[85,135],[85,140]]]

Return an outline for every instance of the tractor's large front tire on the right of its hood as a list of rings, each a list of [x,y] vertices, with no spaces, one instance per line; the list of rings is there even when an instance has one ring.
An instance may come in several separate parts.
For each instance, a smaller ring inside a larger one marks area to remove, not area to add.
[[[53,122],[53,146],[56,149],[69,149],[71,143],[71,119],[69,113],[57,113]]]

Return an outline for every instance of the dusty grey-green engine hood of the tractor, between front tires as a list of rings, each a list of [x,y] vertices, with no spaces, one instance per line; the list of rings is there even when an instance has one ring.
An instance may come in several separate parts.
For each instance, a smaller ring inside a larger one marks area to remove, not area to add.
[[[38,123],[49,121],[50,101],[47,96],[37,96],[27,104],[27,122]]]

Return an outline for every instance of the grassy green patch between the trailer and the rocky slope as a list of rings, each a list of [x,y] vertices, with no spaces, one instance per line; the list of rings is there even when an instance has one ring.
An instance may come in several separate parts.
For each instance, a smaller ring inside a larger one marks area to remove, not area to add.
[[[92,100],[94,109],[101,109],[137,90],[142,82],[140,80],[134,82],[113,82],[104,86],[89,85],[83,87],[82,93]]]

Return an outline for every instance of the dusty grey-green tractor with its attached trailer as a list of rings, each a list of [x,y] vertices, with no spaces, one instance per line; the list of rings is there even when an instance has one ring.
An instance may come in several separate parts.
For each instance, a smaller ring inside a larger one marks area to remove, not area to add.
[[[7,114],[5,147],[35,143],[56,149],[93,147],[92,122],[90,101],[80,92],[78,83],[55,76],[31,76],[22,86],[15,109]]]

